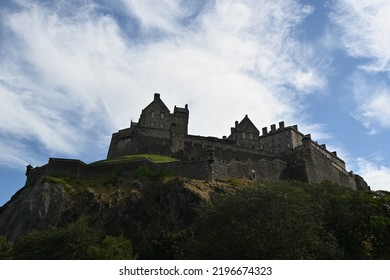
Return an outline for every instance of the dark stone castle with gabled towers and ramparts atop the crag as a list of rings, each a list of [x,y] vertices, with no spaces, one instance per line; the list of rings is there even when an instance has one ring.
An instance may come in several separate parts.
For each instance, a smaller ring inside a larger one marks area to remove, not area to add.
[[[246,115],[236,121],[228,137],[202,137],[188,134],[188,106],[174,107],[173,113],[154,94],[154,100],[142,110],[139,121],[112,135],[107,162],[127,155],[159,154],[178,159],[154,163],[147,159],[112,161],[110,164],[85,164],[79,160],[50,159],[48,164],[29,169],[27,181],[37,176],[61,172],[71,176],[102,177],[118,166],[124,175],[140,165],[151,169],[170,169],[177,176],[195,179],[247,177],[251,179],[305,182],[331,181],[353,190],[369,190],[364,179],[347,172],[345,162],[319,145],[298,126],[279,122],[261,134]]]

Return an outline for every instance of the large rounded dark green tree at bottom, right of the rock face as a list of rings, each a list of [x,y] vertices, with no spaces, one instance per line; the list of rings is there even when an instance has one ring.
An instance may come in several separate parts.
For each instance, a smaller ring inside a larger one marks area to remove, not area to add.
[[[338,258],[337,240],[325,231],[321,209],[296,184],[263,182],[216,195],[199,212],[193,257]]]

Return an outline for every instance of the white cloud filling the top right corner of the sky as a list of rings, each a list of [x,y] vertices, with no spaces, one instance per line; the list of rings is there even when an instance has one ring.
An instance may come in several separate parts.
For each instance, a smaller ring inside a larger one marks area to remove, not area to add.
[[[390,70],[390,2],[387,0],[337,0],[331,19],[341,29],[349,55],[367,58],[368,71]]]

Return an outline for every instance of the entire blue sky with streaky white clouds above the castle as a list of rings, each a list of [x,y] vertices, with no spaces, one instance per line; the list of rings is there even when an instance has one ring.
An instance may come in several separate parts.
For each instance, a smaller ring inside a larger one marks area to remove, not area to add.
[[[50,157],[104,159],[158,92],[189,133],[284,120],[390,191],[390,1],[1,0],[0,205]]]

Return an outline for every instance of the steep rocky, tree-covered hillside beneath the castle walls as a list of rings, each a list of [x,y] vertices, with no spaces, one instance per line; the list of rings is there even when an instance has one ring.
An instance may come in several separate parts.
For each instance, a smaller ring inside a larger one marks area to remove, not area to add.
[[[389,259],[389,209],[388,193],[331,183],[44,176],[0,208],[0,236],[16,258],[58,258],[26,255],[47,243],[29,232],[82,223],[139,259]]]

